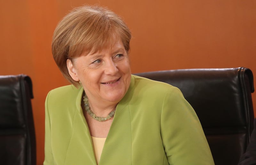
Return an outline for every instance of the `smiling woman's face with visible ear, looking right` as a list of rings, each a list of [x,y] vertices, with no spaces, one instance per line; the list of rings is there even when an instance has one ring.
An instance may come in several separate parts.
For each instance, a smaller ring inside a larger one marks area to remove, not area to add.
[[[130,60],[122,42],[67,60],[69,74],[80,81],[90,102],[117,104],[131,81]]]

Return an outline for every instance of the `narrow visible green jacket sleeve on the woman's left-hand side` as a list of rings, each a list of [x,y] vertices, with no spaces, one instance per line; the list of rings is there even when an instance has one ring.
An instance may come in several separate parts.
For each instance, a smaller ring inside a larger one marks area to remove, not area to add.
[[[51,144],[51,121],[48,112],[48,93],[45,100],[45,139],[44,139],[44,165],[53,165],[52,144]]]

